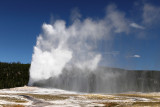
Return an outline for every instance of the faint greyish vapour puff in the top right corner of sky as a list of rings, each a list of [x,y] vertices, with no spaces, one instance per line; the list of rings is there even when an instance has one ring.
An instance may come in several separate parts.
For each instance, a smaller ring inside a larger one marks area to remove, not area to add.
[[[145,4],[143,7],[143,23],[152,24],[160,20],[160,7]]]

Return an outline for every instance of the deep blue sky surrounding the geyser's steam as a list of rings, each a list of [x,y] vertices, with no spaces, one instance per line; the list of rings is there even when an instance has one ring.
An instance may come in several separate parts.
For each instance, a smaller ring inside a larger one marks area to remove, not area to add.
[[[113,63],[108,66],[160,70],[159,0],[1,0],[0,61],[30,63],[44,22],[50,23],[53,17],[69,25],[74,8],[79,9],[82,20],[99,19],[110,4],[125,14],[130,28],[127,34],[114,35],[106,54]]]

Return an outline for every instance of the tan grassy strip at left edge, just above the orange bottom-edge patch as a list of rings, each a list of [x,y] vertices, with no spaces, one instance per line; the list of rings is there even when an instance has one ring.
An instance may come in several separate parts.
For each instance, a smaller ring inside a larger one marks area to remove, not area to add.
[[[2,97],[2,96],[0,97],[0,100],[5,100],[5,101],[15,102],[15,103],[27,103],[28,102],[26,100],[15,98],[15,97]]]

